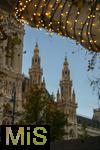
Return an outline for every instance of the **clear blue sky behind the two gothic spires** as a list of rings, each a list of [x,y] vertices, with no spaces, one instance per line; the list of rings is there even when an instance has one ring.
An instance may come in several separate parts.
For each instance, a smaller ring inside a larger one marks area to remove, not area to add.
[[[61,71],[65,55],[67,55],[71,79],[78,103],[77,114],[92,117],[93,109],[97,108],[97,96],[93,93],[89,84],[87,72],[86,50],[76,42],[62,38],[57,34],[52,36],[45,30],[37,30],[25,26],[23,73],[28,76],[35,43],[38,40],[41,66],[45,77],[46,87],[50,93],[56,94],[61,79]]]

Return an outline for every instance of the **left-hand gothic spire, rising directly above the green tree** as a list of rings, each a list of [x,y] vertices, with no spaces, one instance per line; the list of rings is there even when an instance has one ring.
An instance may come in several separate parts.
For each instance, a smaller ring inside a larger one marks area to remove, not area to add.
[[[29,69],[30,84],[37,84],[41,87],[43,70],[41,68],[41,60],[39,56],[38,43],[36,42],[34,55],[32,57],[32,65]]]

